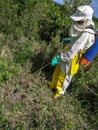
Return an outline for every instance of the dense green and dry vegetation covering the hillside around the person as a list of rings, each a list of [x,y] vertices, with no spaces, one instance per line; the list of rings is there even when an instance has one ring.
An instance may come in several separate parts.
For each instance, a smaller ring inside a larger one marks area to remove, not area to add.
[[[97,130],[98,56],[58,100],[48,88],[70,15],[90,0],[0,1],[0,130]],[[94,18],[98,27],[98,18]]]

